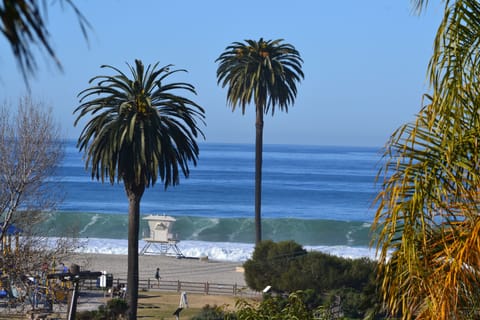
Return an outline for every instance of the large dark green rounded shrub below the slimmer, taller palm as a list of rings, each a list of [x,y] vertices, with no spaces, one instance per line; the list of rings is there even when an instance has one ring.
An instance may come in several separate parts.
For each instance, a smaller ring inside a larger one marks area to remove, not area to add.
[[[245,280],[254,290],[267,285],[275,294],[302,291],[309,310],[322,307],[350,318],[379,314],[376,262],[306,252],[293,241],[263,241],[244,264]],[[281,301],[276,306],[282,307]],[[284,306],[283,306],[284,307]]]

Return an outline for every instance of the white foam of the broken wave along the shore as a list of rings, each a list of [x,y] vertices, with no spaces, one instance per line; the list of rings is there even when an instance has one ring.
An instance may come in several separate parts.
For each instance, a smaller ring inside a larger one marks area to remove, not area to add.
[[[83,253],[127,254],[127,240],[122,239],[83,239],[85,247],[79,249]],[[145,246],[142,240],[140,249]],[[250,259],[254,245],[251,243],[234,242],[206,242],[206,241],[180,241],[177,244],[182,254],[186,257],[208,257],[211,260],[244,262]],[[305,246],[308,251],[321,251],[344,258],[375,258],[374,250],[364,247],[349,246]]]

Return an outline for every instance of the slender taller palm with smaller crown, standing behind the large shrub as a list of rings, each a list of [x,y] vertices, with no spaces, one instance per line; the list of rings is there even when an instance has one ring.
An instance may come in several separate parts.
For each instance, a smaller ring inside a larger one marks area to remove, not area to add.
[[[215,61],[218,62],[217,84],[228,86],[227,102],[242,114],[253,100],[256,112],[255,136],[255,239],[262,240],[262,152],[263,115],[275,107],[288,112],[297,95],[297,82],[303,79],[299,52],[283,39],[234,42]]]

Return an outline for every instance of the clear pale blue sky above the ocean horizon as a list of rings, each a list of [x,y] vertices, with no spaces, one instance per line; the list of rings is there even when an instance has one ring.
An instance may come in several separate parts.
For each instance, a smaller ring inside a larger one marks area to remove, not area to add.
[[[50,3],[50,2],[49,2]],[[254,143],[255,108],[232,112],[217,85],[215,60],[235,41],[284,39],[304,61],[305,79],[288,113],[265,117],[265,144],[383,146],[414,120],[429,91],[427,67],[443,14],[429,2],[420,15],[409,0],[76,2],[91,28],[83,38],[73,11],[50,4],[47,28],[63,71],[45,53],[29,77],[30,91],[11,49],[0,38],[0,101],[29,93],[53,110],[68,138],[78,138],[73,110],[78,93],[108,64],[159,62],[186,69],[178,79],[195,86],[205,108],[206,142]],[[173,79],[172,79],[173,80]],[[202,142],[202,140],[199,140]]]

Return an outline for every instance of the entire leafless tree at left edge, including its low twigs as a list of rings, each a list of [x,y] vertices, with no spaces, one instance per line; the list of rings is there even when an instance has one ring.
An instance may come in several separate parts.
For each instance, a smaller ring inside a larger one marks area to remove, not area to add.
[[[64,155],[59,124],[44,103],[25,96],[0,105],[0,244],[3,268],[25,273],[51,266],[82,246],[71,226],[68,237],[36,230],[63,200],[52,179]],[[11,232],[12,226],[21,236]],[[10,229],[9,229],[10,228]]]

